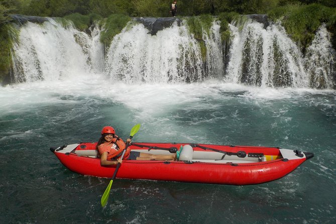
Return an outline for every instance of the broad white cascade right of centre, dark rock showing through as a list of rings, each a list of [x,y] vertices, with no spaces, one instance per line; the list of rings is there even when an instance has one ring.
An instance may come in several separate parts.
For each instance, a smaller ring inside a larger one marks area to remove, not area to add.
[[[233,40],[226,81],[260,86],[307,87],[302,55],[280,25],[264,29],[248,22],[240,32],[231,25]]]

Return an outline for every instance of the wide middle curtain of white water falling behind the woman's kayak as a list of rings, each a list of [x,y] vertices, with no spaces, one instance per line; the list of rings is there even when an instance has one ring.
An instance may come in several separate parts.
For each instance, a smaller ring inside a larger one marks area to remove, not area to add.
[[[106,73],[126,82],[184,82],[202,78],[199,45],[185,25],[151,36],[143,24],[117,35],[107,52]]]

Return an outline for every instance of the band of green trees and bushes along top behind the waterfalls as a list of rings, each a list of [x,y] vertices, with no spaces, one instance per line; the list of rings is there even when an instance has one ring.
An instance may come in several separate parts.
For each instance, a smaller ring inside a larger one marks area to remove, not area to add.
[[[172,0],[0,0],[0,23],[8,13],[64,17],[79,13],[95,13],[103,18],[111,14],[129,17],[169,17]],[[330,0],[178,0],[178,16],[219,15],[236,12],[241,15],[267,14],[268,12],[293,4],[313,4],[334,8],[336,1]],[[290,10],[287,8],[287,10]],[[278,9],[278,11],[281,11]]]

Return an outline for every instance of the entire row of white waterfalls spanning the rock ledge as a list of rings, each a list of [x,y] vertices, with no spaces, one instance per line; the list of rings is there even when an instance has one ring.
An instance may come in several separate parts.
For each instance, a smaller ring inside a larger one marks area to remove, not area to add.
[[[166,23],[161,29],[156,24],[155,32],[144,25],[146,19],[132,20],[108,49],[99,41],[97,26],[92,26],[88,35],[50,18],[43,24],[27,22],[20,27],[13,49],[14,80],[53,81],[103,73],[127,83],[216,79],[261,87],[335,86],[336,54],[325,25],[303,55],[281,24],[252,19],[244,24],[233,22],[226,45],[220,39],[218,21],[212,23],[209,33],[203,30],[202,40],[198,40],[189,33],[185,20],[174,20],[170,18],[169,26]],[[160,18],[162,21],[165,18]],[[229,46],[228,52],[223,50],[225,46]]]

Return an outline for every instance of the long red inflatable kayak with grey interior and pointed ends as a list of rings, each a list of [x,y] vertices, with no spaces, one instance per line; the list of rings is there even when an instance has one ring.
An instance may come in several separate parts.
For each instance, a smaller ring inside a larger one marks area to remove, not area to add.
[[[50,148],[69,170],[111,178],[116,166],[102,167],[96,143]],[[117,178],[213,184],[258,184],[279,179],[312,158],[312,153],[275,147],[221,146],[181,143],[132,143],[134,151],[167,154],[177,161],[123,160]]]

